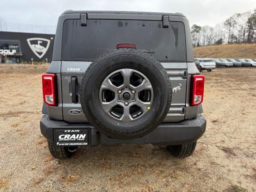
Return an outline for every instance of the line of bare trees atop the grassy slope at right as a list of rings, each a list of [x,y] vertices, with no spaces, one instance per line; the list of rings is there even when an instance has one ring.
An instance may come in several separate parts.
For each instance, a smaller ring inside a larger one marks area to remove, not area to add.
[[[215,27],[191,27],[193,46],[208,46],[231,43],[256,43],[256,9],[234,14]]]

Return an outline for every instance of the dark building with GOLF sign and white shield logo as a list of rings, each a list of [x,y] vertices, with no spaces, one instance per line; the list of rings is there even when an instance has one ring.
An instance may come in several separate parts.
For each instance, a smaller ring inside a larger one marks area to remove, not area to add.
[[[0,31],[0,63],[51,62],[53,34]]]

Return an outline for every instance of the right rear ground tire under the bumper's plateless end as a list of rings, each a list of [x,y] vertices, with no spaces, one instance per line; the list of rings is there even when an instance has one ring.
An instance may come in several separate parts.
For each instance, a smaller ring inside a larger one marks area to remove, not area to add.
[[[196,142],[181,145],[168,145],[166,149],[175,157],[185,158],[193,154],[196,148]]]

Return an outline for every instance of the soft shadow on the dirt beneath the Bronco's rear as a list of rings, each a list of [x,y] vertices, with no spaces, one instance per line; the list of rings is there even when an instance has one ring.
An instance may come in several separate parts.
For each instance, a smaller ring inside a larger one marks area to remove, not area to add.
[[[156,174],[186,164],[186,159],[175,158],[164,147],[137,144],[119,146],[82,147],[68,160],[59,160],[70,173],[79,167],[83,176],[101,174]],[[122,171],[122,172],[120,172]],[[79,174],[79,173],[78,173]]]

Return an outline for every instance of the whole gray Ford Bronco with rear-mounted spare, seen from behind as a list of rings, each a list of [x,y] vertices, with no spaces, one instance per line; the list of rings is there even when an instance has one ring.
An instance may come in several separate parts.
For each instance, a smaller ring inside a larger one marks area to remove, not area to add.
[[[204,76],[180,13],[65,11],[42,86],[40,130],[54,158],[127,143],[183,158],[206,129]]]

